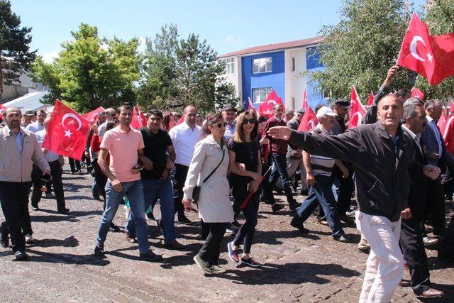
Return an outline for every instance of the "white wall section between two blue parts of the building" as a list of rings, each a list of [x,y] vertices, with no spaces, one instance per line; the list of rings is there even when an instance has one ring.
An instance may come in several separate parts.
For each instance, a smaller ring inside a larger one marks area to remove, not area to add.
[[[287,108],[300,109],[306,88],[306,77],[301,72],[306,70],[306,48],[285,50],[285,104]],[[295,68],[292,70],[293,58]],[[294,104],[292,100],[294,99]]]

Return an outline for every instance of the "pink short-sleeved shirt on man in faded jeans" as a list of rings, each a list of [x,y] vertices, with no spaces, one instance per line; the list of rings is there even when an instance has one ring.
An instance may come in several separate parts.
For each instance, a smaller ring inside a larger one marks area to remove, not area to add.
[[[109,169],[118,181],[140,180],[140,173],[132,170],[138,163],[138,150],[145,148],[140,131],[131,128],[126,133],[117,126],[104,133],[100,147],[109,150],[111,157]]]

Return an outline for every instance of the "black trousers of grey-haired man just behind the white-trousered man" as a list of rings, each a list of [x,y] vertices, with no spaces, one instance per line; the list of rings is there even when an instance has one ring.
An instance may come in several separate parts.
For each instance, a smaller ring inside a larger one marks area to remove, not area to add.
[[[410,286],[415,294],[422,294],[431,287],[427,255],[424,248],[420,220],[416,217],[402,219],[400,247],[410,271]]]

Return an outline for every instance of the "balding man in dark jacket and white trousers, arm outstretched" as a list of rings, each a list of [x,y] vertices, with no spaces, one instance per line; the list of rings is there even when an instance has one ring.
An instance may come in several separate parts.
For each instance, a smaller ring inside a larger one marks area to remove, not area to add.
[[[402,279],[404,258],[399,248],[400,217],[406,208],[410,176],[421,172],[436,179],[441,170],[414,161],[414,146],[404,136],[403,106],[392,94],[378,103],[379,121],[338,136],[299,133],[286,127],[268,131],[308,153],[351,162],[356,175],[356,224],[370,244],[360,302],[389,302]]]

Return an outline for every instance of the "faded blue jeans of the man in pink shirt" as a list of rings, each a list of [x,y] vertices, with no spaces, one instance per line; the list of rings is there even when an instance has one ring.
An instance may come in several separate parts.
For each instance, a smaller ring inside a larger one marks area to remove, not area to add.
[[[123,190],[116,192],[110,180],[106,184],[106,209],[101,216],[99,224],[98,236],[96,241],[99,244],[106,241],[107,232],[111,227],[112,219],[116,214],[123,196],[128,197],[131,206],[131,214],[137,231],[137,240],[140,253],[146,253],[150,249],[148,243],[147,222],[145,221],[145,202],[143,199],[143,186],[140,180],[131,182],[121,182]]]

